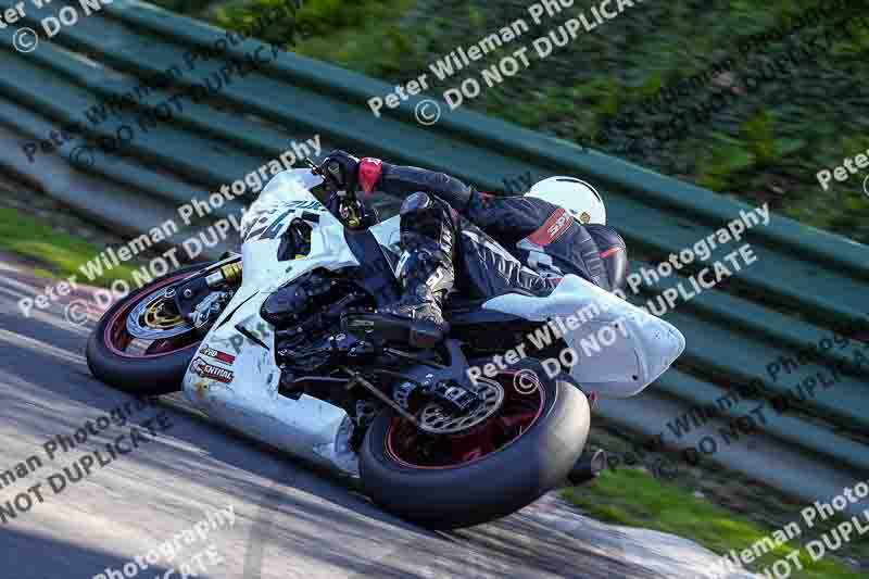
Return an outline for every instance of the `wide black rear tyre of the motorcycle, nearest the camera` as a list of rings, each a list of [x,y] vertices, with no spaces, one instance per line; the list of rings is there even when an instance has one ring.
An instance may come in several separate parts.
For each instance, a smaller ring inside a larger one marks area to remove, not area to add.
[[[528,393],[516,370],[525,375],[526,386],[532,370],[539,388]],[[461,449],[458,455],[432,461],[430,453],[421,452],[415,460],[414,438],[423,441],[420,448],[430,438],[406,420],[382,413],[361,449],[365,492],[406,520],[450,529],[503,517],[558,487],[585,445],[590,423],[585,395],[566,380],[547,378],[533,361],[499,374],[495,380],[504,389],[504,402],[490,420],[495,426],[488,428],[518,426],[518,436],[489,437],[488,452],[482,446],[475,450],[474,441],[469,446],[467,440],[454,438],[449,444]]]

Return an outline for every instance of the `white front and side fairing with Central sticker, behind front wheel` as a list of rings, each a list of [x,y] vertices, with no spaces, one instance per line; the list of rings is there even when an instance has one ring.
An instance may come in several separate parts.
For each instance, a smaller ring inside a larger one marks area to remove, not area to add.
[[[278,394],[280,369],[273,352],[274,329],[260,316],[268,295],[301,274],[316,267],[358,265],[344,241],[341,223],[308,191],[319,182],[319,177],[307,169],[280,173],[244,214],[242,286],[203,340],[185,376],[184,392],[207,415],[249,436],[295,456],[355,474],[355,455],[347,445],[352,428],[347,413],[308,395],[293,400]],[[305,212],[319,216],[318,225],[311,223],[311,252],[303,259],[278,262],[280,235]],[[266,232],[270,226],[274,229]],[[239,327],[265,348],[242,335]],[[219,353],[224,361],[207,353]],[[235,357],[231,363],[225,362],[227,354]],[[230,381],[225,374],[223,379],[213,378],[210,368],[214,367],[229,370]]]

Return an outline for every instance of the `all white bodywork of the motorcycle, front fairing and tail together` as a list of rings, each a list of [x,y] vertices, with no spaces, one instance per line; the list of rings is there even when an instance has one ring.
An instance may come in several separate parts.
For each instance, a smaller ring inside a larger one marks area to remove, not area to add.
[[[197,351],[185,379],[186,398],[205,414],[295,456],[357,475],[356,456],[348,439],[353,423],[347,413],[308,395],[298,400],[278,394],[280,369],[275,363],[274,328],[260,316],[263,302],[300,275],[325,267],[358,265],[344,240],[341,223],[310,189],[322,182],[308,169],[277,175],[242,219],[243,282]],[[316,216],[316,217],[315,217]],[[278,261],[280,236],[294,218],[312,226],[311,252]],[[398,252],[399,217],[369,231]],[[567,276],[547,298],[503,295],[484,307],[544,320],[568,316],[590,303],[607,310],[587,322],[568,343],[582,351],[580,333],[600,331],[620,319],[627,337],[574,367],[583,388],[605,395],[628,397],[659,376],[684,348],[676,328],[576,277]],[[635,376],[635,378],[634,378]]]

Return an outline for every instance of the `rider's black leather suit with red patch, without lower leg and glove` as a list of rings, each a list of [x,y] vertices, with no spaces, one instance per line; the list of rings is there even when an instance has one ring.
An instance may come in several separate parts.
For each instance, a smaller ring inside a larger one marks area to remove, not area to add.
[[[387,163],[377,189],[405,198],[402,243],[451,257],[468,297],[546,294],[566,274],[608,291],[625,285],[627,247],[618,232],[580,225],[542,199],[491,196],[443,173]]]

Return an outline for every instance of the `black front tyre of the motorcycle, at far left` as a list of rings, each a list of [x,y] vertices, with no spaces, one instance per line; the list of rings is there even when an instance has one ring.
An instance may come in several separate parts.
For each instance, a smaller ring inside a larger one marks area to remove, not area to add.
[[[202,265],[182,267],[155,279],[105,312],[88,339],[87,360],[91,374],[109,386],[136,395],[180,390],[201,337],[185,331],[172,339],[154,340],[146,347],[129,333],[126,319],[142,302],[155,299],[155,294],[166,286],[202,268]]]

